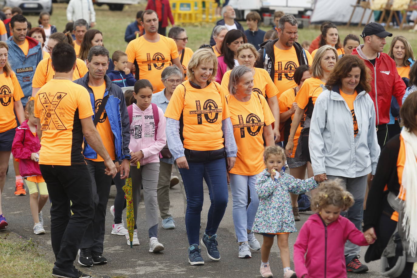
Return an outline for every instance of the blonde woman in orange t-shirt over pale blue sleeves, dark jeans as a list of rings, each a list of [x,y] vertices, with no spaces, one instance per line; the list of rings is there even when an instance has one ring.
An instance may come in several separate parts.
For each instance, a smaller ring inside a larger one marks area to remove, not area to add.
[[[236,160],[229,108],[219,83],[214,81],[216,71],[213,51],[198,49],[188,63],[188,80],[176,87],[165,111],[168,147],[187,195],[185,222],[191,265],[204,264],[198,246],[203,178],[210,191],[211,206],[201,245],[211,260],[220,260],[216,232],[229,197],[226,167],[231,170]]]

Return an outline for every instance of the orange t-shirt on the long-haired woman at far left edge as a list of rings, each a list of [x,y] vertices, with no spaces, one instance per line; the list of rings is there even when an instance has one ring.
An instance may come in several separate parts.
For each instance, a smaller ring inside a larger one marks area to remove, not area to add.
[[[16,122],[14,102],[25,97],[16,74],[11,71],[9,76],[3,71],[0,74],[0,133],[18,126]]]

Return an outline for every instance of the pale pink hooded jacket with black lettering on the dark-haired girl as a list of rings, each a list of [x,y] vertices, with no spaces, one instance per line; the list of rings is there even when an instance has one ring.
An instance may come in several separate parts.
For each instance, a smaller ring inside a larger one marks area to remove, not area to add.
[[[159,124],[155,137],[155,120],[153,119],[152,105],[142,111],[138,105],[133,104],[132,123],[130,125],[131,139],[129,150],[137,152],[142,150],[141,165],[159,162],[159,152],[166,145],[166,119],[161,108],[158,108]],[[131,165],[134,165],[131,163]]]

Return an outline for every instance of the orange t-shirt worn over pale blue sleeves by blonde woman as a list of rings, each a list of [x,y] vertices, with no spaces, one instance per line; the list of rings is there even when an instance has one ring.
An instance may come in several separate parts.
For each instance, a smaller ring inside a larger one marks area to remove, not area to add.
[[[221,121],[229,118],[226,98],[219,83],[212,81],[206,88],[194,88],[189,80],[174,90],[165,117],[180,120],[183,116],[184,148],[189,150],[219,150],[224,148]]]

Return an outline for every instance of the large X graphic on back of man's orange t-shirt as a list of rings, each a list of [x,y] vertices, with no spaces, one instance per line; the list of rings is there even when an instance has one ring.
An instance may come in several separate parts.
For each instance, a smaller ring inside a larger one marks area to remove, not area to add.
[[[65,126],[61,122],[59,116],[57,115],[56,109],[60,101],[67,95],[67,93],[56,93],[53,96],[52,101],[49,100],[46,93],[40,93],[39,99],[40,103],[42,104],[43,108],[45,109],[45,114],[43,115],[43,124],[41,126],[41,130],[65,130]],[[64,112],[60,112],[60,114],[64,114]],[[50,126],[51,120],[54,126]]]

